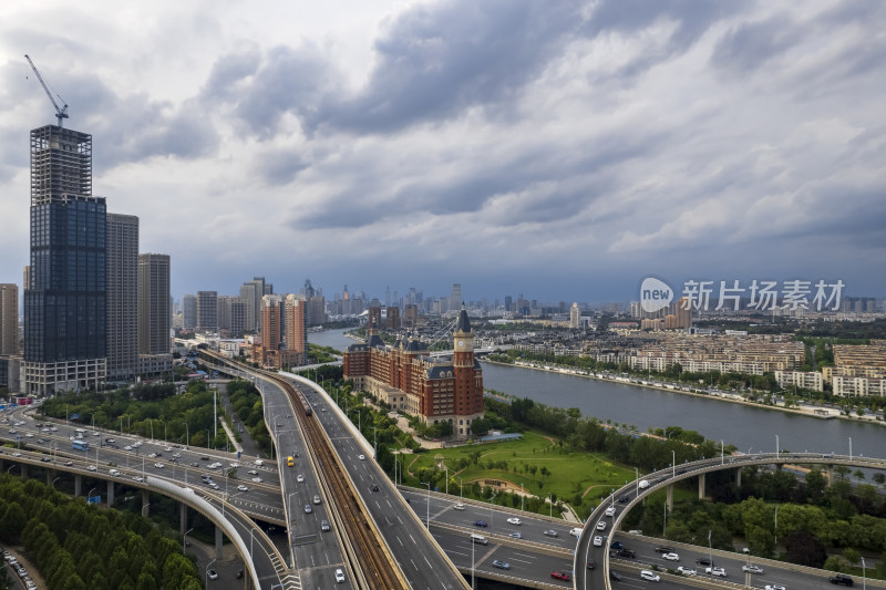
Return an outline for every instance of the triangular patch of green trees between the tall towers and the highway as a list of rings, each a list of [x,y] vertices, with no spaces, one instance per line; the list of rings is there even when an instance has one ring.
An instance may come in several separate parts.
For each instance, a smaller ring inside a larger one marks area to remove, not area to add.
[[[215,428],[214,396],[206,383],[189,381],[175,394],[172,384],[138,385],[114,391],[66,393],[48,398],[47,416],[190,446],[223,448],[227,435]],[[72,417],[76,416],[76,417]]]

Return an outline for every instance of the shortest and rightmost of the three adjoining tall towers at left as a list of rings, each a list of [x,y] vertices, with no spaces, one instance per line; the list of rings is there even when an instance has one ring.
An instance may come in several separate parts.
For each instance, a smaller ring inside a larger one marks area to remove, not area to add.
[[[138,255],[138,354],[169,353],[171,321],[169,255]]]

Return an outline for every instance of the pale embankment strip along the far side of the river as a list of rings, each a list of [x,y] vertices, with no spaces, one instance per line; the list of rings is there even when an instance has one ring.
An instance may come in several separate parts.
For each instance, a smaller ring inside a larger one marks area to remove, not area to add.
[[[490,361],[488,359],[480,359],[482,363],[490,363],[496,364],[499,366],[511,366],[516,369],[529,369],[533,371],[540,371],[545,373],[555,373],[558,375],[566,375],[566,376],[576,376],[576,377],[585,377],[591,379],[596,381],[602,381],[608,383],[616,383],[616,384],[624,384],[624,385],[631,385],[635,387],[643,387],[650,390],[658,390],[663,392],[670,393],[679,393],[682,395],[701,397],[705,400],[715,400],[720,402],[728,402],[733,404],[741,404],[751,407],[759,407],[763,410],[775,410],[779,412],[784,412],[789,414],[797,414],[803,416],[815,417],[820,420],[832,420],[832,418],[841,418],[848,422],[864,422],[864,423],[873,423],[879,425],[886,425],[886,422],[877,420],[876,416],[847,416],[843,414],[839,410],[833,407],[823,407],[823,406],[803,406],[803,407],[786,407],[783,404],[766,404],[762,402],[752,402],[745,400],[739,394],[729,393],[729,392],[702,392],[697,389],[689,387],[687,385],[680,384],[659,384],[659,383],[651,383],[647,380],[640,380],[631,376],[625,375],[612,375],[608,373],[589,373],[584,372],[578,369],[571,368],[563,368],[563,366],[555,366],[555,365],[545,365],[538,363],[529,363],[529,362],[516,362],[516,363],[502,363],[498,361]]]

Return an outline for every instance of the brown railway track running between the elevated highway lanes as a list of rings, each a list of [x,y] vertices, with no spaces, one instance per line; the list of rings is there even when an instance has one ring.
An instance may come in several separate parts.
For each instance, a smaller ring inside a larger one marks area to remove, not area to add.
[[[202,352],[212,356],[216,362],[230,364],[230,361],[210,351]],[[401,577],[399,567],[379,540],[372,522],[362,510],[362,503],[351,487],[326,432],[317,422],[316,416],[312,416],[311,406],[305,395],[295,385],[274,373],[256,371],[251,368],[248,370],[260,372],[264,379],[279,385],[290,397],[292,407],[296,408],[296,420],[320,467],[318,473],[329,486],[330,500],[344,527],[342,535],[350,541],[353,550],[351,557],[356,563],[352,566],[359,569],[365,586],[373,590],[408,589],[409,584]]]

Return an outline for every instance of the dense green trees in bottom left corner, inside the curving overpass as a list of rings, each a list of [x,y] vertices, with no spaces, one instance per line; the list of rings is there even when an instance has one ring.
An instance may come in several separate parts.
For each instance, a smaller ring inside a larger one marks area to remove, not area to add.
[[[0,539],[22,545],[54,590],[203,588],[169,529],[87,506],[35,479],[0,478]]]

